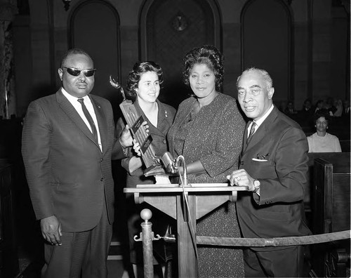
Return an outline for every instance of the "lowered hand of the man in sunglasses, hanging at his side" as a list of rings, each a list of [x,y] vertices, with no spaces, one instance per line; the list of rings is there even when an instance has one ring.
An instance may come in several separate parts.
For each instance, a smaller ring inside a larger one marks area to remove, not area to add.
[[[61,224],[56,216],[49,216],[40,220],[41,234],[49,243],[61,245]]]

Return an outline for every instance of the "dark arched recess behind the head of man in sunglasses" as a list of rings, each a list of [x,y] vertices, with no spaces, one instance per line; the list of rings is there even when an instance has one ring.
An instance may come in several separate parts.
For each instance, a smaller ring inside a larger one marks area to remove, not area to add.
[[[112,75],[121,80],[119,27],[117,11],[101,0],[82,2],[69,18],[69,47],[82,48],[91,55],[97,69],[92,93],[110,100],[115,114],[121,95],[110,86],[109,78]]]

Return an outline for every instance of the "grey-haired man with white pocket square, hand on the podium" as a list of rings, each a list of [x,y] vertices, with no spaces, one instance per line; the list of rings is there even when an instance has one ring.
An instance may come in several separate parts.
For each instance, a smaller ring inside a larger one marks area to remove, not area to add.
[[[263,69],[246,69],[237,80],[246,126],[239,170],[231,185],[248,186],[237,201],[244,237],[296,237],[310,234],[303,206],[308,145],[295,121],[274,107],[274,88]],[[244,250],[246,277],[302,277],[303,246]]]

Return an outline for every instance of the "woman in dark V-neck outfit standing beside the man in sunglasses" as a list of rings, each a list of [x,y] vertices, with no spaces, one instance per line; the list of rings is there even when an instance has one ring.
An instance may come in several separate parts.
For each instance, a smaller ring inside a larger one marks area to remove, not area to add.
[[[126,85],[126,98],[133,100],[136,111],[148,123],[149,134],[152,135],[152,147],[157,157],[161,157],[164,152],[168,151],[166,135],[176,114],[176,109],[157,100],[162,83],[163,72],[161,67],[155,62],[147,61],[135,63],[133,69],[129,72]],[[124,126],[124,120],[120,118],[117,122],[117,132],[122,131]],[[162,184],[170,183],[165,176],[156,178],[154,176],[145,177],[143,160],[134,155],[132,150],[129,150],[129,157],[123,159],[121,165],[127,172],[126,187],[136,187],[136,185],[154,184],[157,182]],[[141,241],[134,241],[133,237],[141,232],[140,224],[143,220],[140,218],[140,211],[146,207],[152,211],[152,223],[154,223],[152,230],[154,234],[164,235],[168,223],[173,221],[166,214],[147,204],[135,204],[133,194],[126,194],[130,260],[133,264],[135,277],[143,277],[143,244]],[[161,265],[163,272],[165,271],[165,263],[172,258],[172,249],[173,245],[168,246],[161,240],[154,241],[154,265]]]

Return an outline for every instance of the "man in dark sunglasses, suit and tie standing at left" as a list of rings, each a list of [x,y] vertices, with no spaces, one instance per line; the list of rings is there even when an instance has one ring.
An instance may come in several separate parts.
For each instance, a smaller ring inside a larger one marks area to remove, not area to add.
[[[30,197],[46,239],[42,277],[107,277],[114,221],[111,159],[131,145],[128,126],[115,138],[108,100],[89,95],[90,55],[71,49],[58,74],[62,87],[29,104],[22,133]]]

